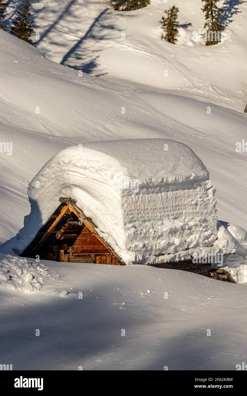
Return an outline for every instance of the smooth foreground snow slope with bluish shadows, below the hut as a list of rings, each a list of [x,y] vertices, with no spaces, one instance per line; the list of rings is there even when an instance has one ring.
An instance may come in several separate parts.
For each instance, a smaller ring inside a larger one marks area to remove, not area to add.
[[[246,362],[246,284],[143,265],[43,263],[52,275],[43,294],[0,288],[1,359],[13,370],[236,370]]]

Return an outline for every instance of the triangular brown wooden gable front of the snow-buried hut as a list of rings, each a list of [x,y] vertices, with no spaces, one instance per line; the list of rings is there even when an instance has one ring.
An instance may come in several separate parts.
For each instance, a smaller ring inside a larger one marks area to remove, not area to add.
[[[111,246],[101,238],[92,219],[86,217],[74,200],[60,198],[61,204],[21,253],[22,257],[67,263],[125,265]]]

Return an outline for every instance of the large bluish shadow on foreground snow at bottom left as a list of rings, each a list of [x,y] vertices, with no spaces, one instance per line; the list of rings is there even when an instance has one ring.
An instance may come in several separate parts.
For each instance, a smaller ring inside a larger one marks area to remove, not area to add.
[[[84,293],[84,286],[82,300],[77,298],[75,290],[75,294],[57,297],[58,300],[54,295],[36,294],[25,301],[25,296],[18,294],[18,298],[24,299],[22,310],[16,305],[1,318],[2,360],[13,364],[13,370],[78,370],[79,366],[83,370],[103,370],[107,369],[106,359],[111,368],[115,366],[113,369],[128,369],[134,356],[132,349],[126,351],[124,345],[132,345],[133,334],[138,335],[135,330],[140,318],[133,315],[129,320],[129,312],[121,309],[121,303],[113,305],[109,301],[110,284],[110,279],[98,285],[89,284],[86,288],[92,289],[91,293]],[[144,320],[150,327],[150,318]],[[121,336],[122,328],[126,329],[126,337]],[[40,330],[40,336],[35,335],[36,329]],[[126,362],[122,366],[124,356]]]

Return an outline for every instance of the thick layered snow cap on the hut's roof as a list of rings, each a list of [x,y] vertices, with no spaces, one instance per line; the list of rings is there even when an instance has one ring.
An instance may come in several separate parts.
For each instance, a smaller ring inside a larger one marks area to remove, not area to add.
[[[31,213],[19,244],[27,237],[30,242],[60,196],[77,201],[126,263],[146,263],[150,255],[212,246],[216,240],[209,172],[188,146],[174,140],[66,148],[38,172],[28,192]]]

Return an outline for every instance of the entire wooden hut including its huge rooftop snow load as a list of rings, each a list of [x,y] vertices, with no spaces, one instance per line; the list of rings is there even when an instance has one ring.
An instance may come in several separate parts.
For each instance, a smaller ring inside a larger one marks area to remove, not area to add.
[[[66,148],[38,172],[28,192],[31,213],[15,241],[26,257],[153,265],[190,259],[196,249],[232,252],[229,244],[216,245],[209,172],[178,141]],[[57,207],[60,197],[67,198]]]

